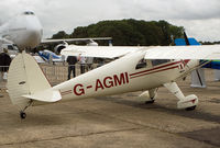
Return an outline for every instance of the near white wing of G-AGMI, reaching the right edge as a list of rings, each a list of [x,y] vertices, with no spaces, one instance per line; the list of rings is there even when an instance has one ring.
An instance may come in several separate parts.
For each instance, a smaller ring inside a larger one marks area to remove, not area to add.
[[[157,46],[146,49],[145,59],[220,59],[220,45]]]

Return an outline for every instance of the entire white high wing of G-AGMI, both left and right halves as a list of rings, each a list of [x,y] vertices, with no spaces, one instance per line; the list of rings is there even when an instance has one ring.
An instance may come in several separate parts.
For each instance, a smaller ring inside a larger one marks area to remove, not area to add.
[[[220,59],[220,45],[202,46],[68,46],[62,55],[86,57],[116,58],[127,54],[142,50],[145,59]]]

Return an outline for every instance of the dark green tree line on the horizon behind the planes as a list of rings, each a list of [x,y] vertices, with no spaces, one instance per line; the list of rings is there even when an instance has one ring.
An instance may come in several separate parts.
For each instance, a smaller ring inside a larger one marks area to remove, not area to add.
[[[52,38],[112,37],[113,46],[167,46],[183,37],[184,27],[166,21],[114,20],[78,26],[73,33],[59,31]],[[98,41],[99,45],[108,42]]]

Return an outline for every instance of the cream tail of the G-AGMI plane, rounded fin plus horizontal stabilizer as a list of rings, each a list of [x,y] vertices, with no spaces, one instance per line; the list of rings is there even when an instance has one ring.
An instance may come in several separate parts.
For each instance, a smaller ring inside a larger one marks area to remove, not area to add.
[[[62,99],[61,93],[52,89],[34,58],[25,52],[12,60],[7,87],[12,104],[21,110],[33,101],[55,102]]]

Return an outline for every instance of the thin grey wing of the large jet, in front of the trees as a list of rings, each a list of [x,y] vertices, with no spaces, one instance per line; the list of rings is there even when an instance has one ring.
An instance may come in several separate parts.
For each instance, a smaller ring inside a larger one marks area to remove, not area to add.
[[[108,41],[112,37],[90,37],[90,38],[63,38],[63,39],[43,39],[41,43],[58,43],[58,42],[89,42],[89,41]]]

